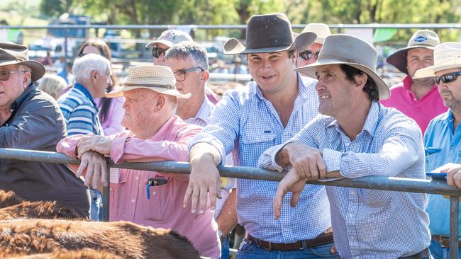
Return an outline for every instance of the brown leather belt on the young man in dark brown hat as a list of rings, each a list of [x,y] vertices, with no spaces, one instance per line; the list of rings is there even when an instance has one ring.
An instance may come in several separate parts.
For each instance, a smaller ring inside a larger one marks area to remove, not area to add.
[[[291,251],[304,248],[312,248],[314,246],[321,246],[327,243],[333,242],[333,232],[322,233],[316,238],[300,240],[294,243],[271,243],[267,241],[262,241],[260,239],[252,237],[250,234],[247,234],[248,240],[255,242],[257,246],[264,248],[265,250],[280,250],[280,251]]]

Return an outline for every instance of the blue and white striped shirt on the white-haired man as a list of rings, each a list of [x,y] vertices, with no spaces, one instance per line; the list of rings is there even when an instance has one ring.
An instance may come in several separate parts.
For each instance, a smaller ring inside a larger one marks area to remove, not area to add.
[[[91,94],[81,84],[62,95],[57,103],[67,124],[67,135],[89,134],[103,135],[98,117],[98,107]]]

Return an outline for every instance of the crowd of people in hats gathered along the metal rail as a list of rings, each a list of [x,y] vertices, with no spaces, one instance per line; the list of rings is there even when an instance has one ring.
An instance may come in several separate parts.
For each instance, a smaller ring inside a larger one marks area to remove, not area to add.
[[[109,206],[110,221],[172,229],[209,258],[229,258],[236,224],[246,231],[237,258],[448,258],[450,202],[442,195],[306,179],[425,179],[431,171],[461,188],[460,42],[418,30],[388,57],[406,74],[389,87],[365,40],[323,23],[296,34],[283,13],[255,15],[245,42],[223,47],[238,64],[231,73],[252,81],[222,99],[207,86],[216,67],[190,35],[166,30],[145,47],[153,64],[130,67],[118,81],[106,43],[87,40],[68,87],[44,76],[27,47],[0,43],[0,147],[81,160],[1,159],[0,188],[96,221]],[[188,161],[191,173],[109,170],[106,156]],[[280,183],[223,178],[218,165],[287,174]],[[110,188],[110,205],[101,203],[101,186]]]

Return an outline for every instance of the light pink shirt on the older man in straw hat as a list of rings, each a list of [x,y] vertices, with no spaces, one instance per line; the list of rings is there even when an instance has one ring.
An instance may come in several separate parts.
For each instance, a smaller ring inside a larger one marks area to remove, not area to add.
[[[125,161],[188,161],[187,142],[201,130],[173,115],[150,139],[135,138],[129,130],[112,135],[111,159]],[[62,139],[57,151],[75,157],[75,148],[82,135]],[[148,178],[165,178],[167,183],[150,188]],[[191,214],[190,205],[182,208],[188,175],[162,175],[134,169],[111,169],[110,221],[131,221],[144,226],[165,228],[187,236],[201,255],[219,258],[218,225],[208,207],[204,214]],[[155,192],[155,194],[154,194]]]

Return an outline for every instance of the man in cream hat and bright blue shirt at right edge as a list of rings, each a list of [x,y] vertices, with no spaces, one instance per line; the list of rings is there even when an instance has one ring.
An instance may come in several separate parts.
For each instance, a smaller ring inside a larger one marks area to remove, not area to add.
[[[460,42],[445,42],[435,47],[434,65],[419,69],[414,75],[416,79],[435,77],[435,84],[438,84],[443,103],[450,108],[446,113],[431,120],[424,135],[424,147],[426,171],[448,173],[447,183],[456,188],[461,188],[461,128],[458,127],[461,121],[460,76]],[[432,234],[431,253],[434,258],[448,258],[450,200],[442,195],[430,194],[426,212],[431,222],[429,225]],[[461,250],[458,253],[461,254]]]

